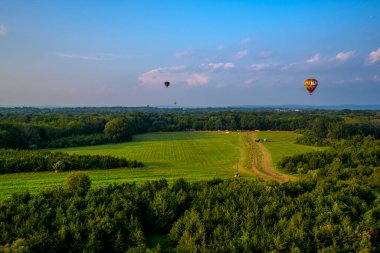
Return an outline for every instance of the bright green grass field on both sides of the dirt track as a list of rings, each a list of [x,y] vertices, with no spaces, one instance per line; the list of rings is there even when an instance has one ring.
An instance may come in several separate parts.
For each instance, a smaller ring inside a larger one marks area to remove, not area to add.
[[[136,135],[132,142],[55,149],[76,154],[98,154],[126,157],[142,161],[144,168],[86,171],[92,185],[107,186],[112,183],[136,182],[166,178],[169,182],[184,178],[188,181],[212,178],[231,178],[239,164],[240,174],[254,177],[251,168],[245,166],[247,149],[243,136],[249,132],[175,132]],[[265,146],[276,162],[283,156],[315,150],[296,145],[292,141],[298,136],[291,132],[259,132],[260,138],[270,142]],[[318,149],[318,148],[317,148]],[[2,199],[15,192],[38,192],[48,185],[62,185],[68,172],[15,173],[0,175]]]

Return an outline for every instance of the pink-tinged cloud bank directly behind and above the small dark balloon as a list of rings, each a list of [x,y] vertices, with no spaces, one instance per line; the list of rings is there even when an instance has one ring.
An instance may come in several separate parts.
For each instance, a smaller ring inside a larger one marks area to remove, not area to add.
[[[142,85],[146,86],[163,85],[165,81],[198,86],[207,84],[209,76],[206,73],[191,71],[188,67],[181,65],[152,69],[141,74],[138,79],[142,82]]]

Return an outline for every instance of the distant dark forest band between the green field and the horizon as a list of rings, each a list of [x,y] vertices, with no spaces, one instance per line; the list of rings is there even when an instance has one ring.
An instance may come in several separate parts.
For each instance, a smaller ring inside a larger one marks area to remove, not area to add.
[[[131,140],[134,134],[190,130],[298,130],[300,143],[355,135],[380,138],[377,111],[154,108],[0,108],[0,148],[59,148]]]

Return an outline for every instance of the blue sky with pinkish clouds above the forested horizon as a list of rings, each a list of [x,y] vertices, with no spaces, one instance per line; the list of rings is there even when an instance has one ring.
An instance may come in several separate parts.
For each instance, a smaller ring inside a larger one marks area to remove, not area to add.
[[[0,105],[174,101],[380,104],[380,1],[0,0]]]

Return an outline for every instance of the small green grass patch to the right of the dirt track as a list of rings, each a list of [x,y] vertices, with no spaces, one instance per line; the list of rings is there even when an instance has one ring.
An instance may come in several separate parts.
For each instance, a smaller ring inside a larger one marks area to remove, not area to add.
[[[267,142],[263,142],[263,144],[271,153],[272,164],[275,168],[277,168],[277,162],[285,156],[326,149],[325,147],[312,147],[295,144],[294,142],[299,136],[301,135],[294,132],[257,132],[258,138],[267,139]]]

